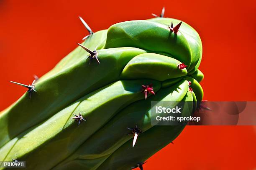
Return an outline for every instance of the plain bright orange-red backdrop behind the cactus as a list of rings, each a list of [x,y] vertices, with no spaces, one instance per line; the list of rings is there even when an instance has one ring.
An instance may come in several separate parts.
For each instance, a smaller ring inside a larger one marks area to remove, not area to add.
[[[203,43],[200,70],[205,100],[256,100],[256,2],[254,0],[0,0],[0,110],[26,90],[8,80],[31,83],[73,50],[87,31],[125,20],[167,17],[192,25]],[[255,126],[187,126],[145,164],[146,170],[256,168]]]

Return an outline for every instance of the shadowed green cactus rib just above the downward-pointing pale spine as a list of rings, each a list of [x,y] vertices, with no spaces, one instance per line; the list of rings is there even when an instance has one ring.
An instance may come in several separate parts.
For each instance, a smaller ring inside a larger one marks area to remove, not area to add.
[[[182,80],[172,87],[159,90],[157,95],[149,97],[148,100],[140,100],[132,103],[120,111],[95,135],[91,136],[89,140],[80,146],[76,153],[67,160],[64,160],[56,169],[62,169],[64,167],[71,168],[72,166],[79,169],[82,167],[79,167],[78,162],[81,162],[81,160],[87,162],[91,159],[98,160],[95,167],[99,166],[105,160],[102,160],[102,157],[107,158],[120,146],[133,138],[133,135],[127,135],[130,132],[126,127],[133,127],[137,124],[142,132],[153,127],[151,125],[151,101],[181,101],[187,94],[187,89],[188,82]],[[140,140],[140,136],[138,140]],[[103,143],[104,145],[102,145]],[[102,147],[98,147],[99,145],[102,145]]]

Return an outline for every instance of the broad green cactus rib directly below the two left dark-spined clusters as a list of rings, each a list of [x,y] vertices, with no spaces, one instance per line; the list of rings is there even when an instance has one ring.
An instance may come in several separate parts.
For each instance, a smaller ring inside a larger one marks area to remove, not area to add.
[[[89,67],[84,54],[74,65],[38,81],[35,85],[38,92],[32,94],[32,100],[26,93],[0,115],[0,128],[3,129],[0,131],[0,146],[80,97],[117,81],[126,63],[143,52],[131,47],[99,50],[100,67],[95,62]]]

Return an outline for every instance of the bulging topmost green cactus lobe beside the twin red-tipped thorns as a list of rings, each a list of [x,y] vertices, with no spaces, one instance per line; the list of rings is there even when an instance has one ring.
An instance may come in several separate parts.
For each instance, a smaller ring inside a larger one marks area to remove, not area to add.
[[[174,34],[166,25],[146,20],[112,25],[103,48],[113,47],[138,47],[152,52],[164,52],[187,65],[192,61],[189,44],[181,33]]]

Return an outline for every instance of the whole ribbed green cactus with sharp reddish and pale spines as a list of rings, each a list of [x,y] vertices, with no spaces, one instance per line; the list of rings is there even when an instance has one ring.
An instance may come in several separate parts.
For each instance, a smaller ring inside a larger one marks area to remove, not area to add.
[[[203,97],[202,43],[187,23],[160,17],[92,32],[0,113],[0,161],[28,169],[143,169],[184,126],[151,125],[151,101]],[[175,25],[175,26],[174,26]],[[90,59],[90,60],[87,60]]]

